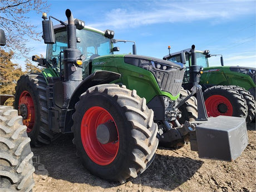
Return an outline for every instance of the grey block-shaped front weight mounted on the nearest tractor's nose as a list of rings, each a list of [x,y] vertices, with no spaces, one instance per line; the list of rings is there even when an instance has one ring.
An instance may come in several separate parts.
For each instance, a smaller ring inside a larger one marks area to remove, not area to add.
[[[196,126],[196,140],[200,158],[233,161],[248,145],[245,119],[232,116],[211,117]]]

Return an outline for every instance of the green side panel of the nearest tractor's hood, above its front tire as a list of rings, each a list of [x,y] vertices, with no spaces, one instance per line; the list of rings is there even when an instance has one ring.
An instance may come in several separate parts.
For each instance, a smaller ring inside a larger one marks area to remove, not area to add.
[[[124,62],[125,55],[110,55],[95,58],[92,62],[92,72],[97,70],[113,71],[121,74],[121,79],[115,83],[122,83],[130,90],[136,90],[140,97],[145,97],[149,102],[156,95],[169,97],[176,100],[176,96],[169,92],[161,91],[154,75],[143,68],[133,66]]]

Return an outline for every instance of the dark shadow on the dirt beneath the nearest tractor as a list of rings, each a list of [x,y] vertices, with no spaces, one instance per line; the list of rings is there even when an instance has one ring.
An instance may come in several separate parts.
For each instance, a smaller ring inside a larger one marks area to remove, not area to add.
[[[70,183],[90,184],[101,188],[112,188],[120,183],[113,183],[91,175],[83,168],[76,156],[76,147],[72,144],[72,134],[62,135],[51,145],[33,147],[32,151],[40,157],[51,178],[66,180]],[[188,157],[175,157],[157,154],[150,167],[131,183],[150,186],[151,188],[173,190],[189,180],[201,167],[203,161]]]

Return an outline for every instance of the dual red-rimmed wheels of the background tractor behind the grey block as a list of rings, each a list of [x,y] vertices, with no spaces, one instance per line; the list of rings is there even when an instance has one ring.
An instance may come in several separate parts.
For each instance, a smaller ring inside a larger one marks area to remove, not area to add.
[[[255,99],[242,87],[216,85],[206,89],[203,95],[209,117],[243,117],[247,124],[255,117]]]

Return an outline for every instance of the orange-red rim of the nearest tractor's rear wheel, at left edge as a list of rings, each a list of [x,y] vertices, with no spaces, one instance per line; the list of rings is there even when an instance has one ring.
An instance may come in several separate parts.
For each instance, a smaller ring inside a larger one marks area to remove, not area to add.
[[[27,126],[27,132],[31,132],[35,123],[35,107],[32,97],[28,91],[23,91],[19,96],[19,115],[21,114],[20,107],[26,106],[27,115],[23,118],[23,124]],[[22,115],[23,116],[23,115]]]

